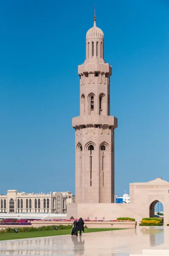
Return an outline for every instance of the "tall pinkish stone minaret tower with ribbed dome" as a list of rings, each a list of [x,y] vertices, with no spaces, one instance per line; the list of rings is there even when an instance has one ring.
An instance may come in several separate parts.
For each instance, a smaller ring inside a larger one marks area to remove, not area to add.
[[[104,34],[94,25],[86,34],[86,60],[79,65],[80,116],[76,130],[76,204],[114,203],[114,129],[110,116],[112,67],[104,61]]]

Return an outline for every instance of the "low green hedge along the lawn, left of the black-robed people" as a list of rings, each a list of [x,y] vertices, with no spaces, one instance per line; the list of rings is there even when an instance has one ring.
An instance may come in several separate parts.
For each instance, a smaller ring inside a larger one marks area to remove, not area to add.
[[[43,230],[54,230],[57,227],[58,230],[72,229],[73,225],[58,225],[58,226],[42,226],[42,227],[17,227],[18,232],[32,232],[32,231],[43,231]],[[0,230],[0,233],[14,233],[14,228],[8,227]]]

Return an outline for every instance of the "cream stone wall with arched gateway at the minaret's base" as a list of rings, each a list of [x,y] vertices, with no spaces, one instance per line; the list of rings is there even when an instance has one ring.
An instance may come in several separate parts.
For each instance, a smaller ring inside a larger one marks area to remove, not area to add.
[[[130,204],[74,204],[68,206],[68,218],[91,220],[115,220],[119,217],[154,217],[155,204],[160,201],[164,208],[164,225],[169,224],[169,182],[156,178],[146,183],[130,183]]]

